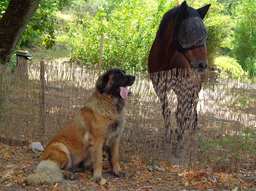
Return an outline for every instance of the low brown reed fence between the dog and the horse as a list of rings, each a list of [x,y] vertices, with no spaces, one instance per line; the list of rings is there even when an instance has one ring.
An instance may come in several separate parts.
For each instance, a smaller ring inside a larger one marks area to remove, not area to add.
[[[45,63],[42,84],[40,64],[42,67],[44,63],[30,63],[24,69],[27,73],[16,73],[11,67],[0,65],[2,143],[29,145],[39,141],[46,144],[94,92],[97,68],[69,62]],[[191,84],[197,84],[198,87],[198,78],[193,76],[184,80],[180,76],[173,77],[171,73],[163,72],[152,75],[152,78],[162,79],[157,86],[160,91],[163,91],[161,86],[164,86],[166,79],[165,87],[172,89],[166,101],[170,109],[168,123],[175,130],[178,118],[175,111],[180,99],[175,92],[182,90],[185,95],[190,94],[185,89],[190,88]],[[255,78],[248,79],[245,74],[237,78],[230,71],[223,71],[215,77],[206,72],[203,79],[199,98],[194,98],[198,102],[194,104],[194,110],[178,113],[189,114],[194,118],[194,111],[197,110],[198,129],[191,131],[193,124],[186,125],[186,156],[177,157],[177,137],[172,134],[170,138],[173,141],[166,141],[165,115],[162,115],[161,102],[152,81],[149,75],[136,75],[134,84],[129,87],[133,93],[126,100],[126,123],[120,143],[120,158],[123,161],[164,160],[170,165],[186,166],[189,170],[255,175]],[[163,92],[160,91],[161,97]]]

